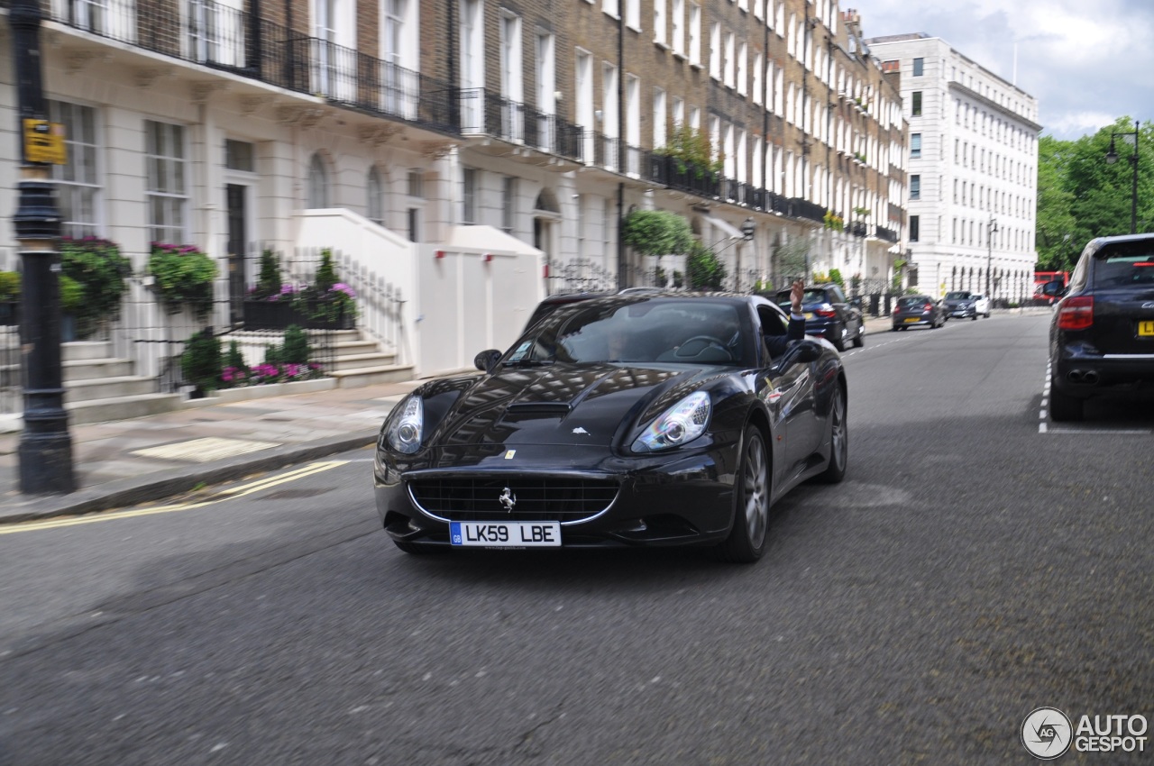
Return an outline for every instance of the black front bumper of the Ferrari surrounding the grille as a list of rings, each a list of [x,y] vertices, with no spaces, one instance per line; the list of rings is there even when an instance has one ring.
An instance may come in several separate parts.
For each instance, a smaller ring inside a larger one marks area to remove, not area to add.
[[[518,466],[514,471],[478,466],[398,474],[382,471],[379,460],[374,494],[384,531],[394,540],[448,548],[452,547],[448,519],[459,520],[459,517],[414,504],[409,488],[411,478],[428,482],[437,476],[472,476],[478,480],[495,479],[509,486],[516,486],[518,479],[537,481],[550,476],[559,480],[608,480],[617,486],[612,503],[591,517],[562,521],[562,547],[710,545],[724,540],[732,524],[735,446],[714,445],[706,451],[677,452],[662,458],[607,458],[601,460],[600,466],[578,471],[560,470],[559,466],[567,463],[564,448],[553,448],[547,464]],[[496,493],[493,500],[496,501]],[[473,512],[469,520],[532,520],[512,518],[496,502],[493,506],[489,516],[482,513],[479,517]]]

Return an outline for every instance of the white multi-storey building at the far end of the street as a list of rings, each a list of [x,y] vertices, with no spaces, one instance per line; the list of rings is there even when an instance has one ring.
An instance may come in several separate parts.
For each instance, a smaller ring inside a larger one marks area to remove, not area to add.
[[[917,286],[932,295],[1028,298],[1037,261],[1037,99],[941,38],[867,43],[883,67],[901,72]]]

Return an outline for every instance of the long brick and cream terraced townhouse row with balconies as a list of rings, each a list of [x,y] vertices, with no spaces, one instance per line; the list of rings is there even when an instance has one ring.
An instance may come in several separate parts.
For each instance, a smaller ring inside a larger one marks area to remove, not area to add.
[[[331,249],[358,292],[350,363],[366,380],[470,368],[547,294],[667,283],[683,256],[622,245],[635,210],[684,216],[735,290],[803,260],[882,292],[908,260],[899,73],[835,1],[40,8],[47,117],[67,134],[53,168],[63,233],[130,258],[110,353],[160,390],[195,320],[174,325],[152,300],[158,241],[217,263],[217,332],[246,330],[262,251],[306,279]],[[16,178],[0,30],[0,173]],[[719,173],[664,151],[684,126],[707,136]],[[0,188],[0,209],[15,204]],[[16,249],[0,218],[0,269]]]

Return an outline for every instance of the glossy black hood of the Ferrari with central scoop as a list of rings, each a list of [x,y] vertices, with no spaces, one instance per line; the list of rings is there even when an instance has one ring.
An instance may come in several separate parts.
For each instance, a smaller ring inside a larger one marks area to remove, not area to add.
[[[608,449],[620,430],[647,423],[718,377],[717,368],[680,365],[555,363],[497,367],[479,378],[427,384],[418,393],[428,403],[426,418],[444,413],[432,426],[432,446]]]

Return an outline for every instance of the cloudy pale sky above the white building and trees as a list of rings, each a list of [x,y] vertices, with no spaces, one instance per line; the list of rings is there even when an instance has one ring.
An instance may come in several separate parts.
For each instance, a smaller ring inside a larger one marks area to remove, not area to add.
[[[1037,99],[1042,135],[1071,141],[1119,117],[1154,120],[1154,0],[840,5],[857,10],[867,38],[927,32],[1018,85]]]

